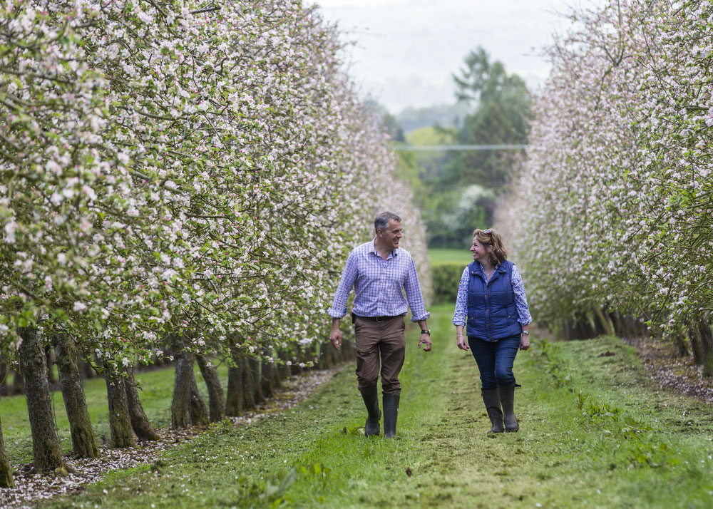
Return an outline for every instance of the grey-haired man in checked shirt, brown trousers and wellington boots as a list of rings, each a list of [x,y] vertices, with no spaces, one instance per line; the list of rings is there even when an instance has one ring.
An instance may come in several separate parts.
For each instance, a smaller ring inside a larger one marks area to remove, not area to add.
[[[380,431],[381,411],[376,380],[381,358],[384,436],[391,438],[396,435],[401,395],[399,372],[406,352],[406,299],[411,307],[411,322],[419,322],[421,326],[419,349],[424,345],[424,351],[431,350],[431,331],[426,324],[430,314],[426,312],[414,260],[399,247],[399,240],[404,236],[401,233],[401,217],[392,212],[381,212],[374,220],[374,230],[374,240],[349,253],[342,281],[329,309],[329,316],[332,317],[329,340],[335,349],[342,344],[339,319],[347,314],[347,299],[354,287],[352,323],[356,336],[356,379],[368,413],[364,434],[378,435]]]

